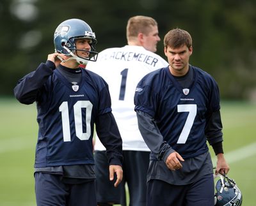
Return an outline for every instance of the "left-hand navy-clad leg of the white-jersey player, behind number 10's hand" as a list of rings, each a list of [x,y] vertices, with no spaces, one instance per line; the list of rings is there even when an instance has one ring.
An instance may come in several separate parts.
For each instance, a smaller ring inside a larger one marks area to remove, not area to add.
[[[115,180],[109,180],[109,163],[106,151],[95,151],[95,175],[97,202],[120,203],[120,196],[125,193],[124,180],[115,188]]]

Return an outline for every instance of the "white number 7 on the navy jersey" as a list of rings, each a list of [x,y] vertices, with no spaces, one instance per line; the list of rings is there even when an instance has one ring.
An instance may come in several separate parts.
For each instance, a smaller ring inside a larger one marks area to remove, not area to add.
[[[186,143],[196,117],[196,105],[177,105],[178,112],[189,112],[177,143]]]

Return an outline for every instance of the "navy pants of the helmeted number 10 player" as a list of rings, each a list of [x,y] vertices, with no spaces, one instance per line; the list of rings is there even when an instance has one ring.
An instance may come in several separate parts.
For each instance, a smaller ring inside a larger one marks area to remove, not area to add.
[[[37,206],[97,206],[95,180],[65,184],[62,175],[35,173]]]

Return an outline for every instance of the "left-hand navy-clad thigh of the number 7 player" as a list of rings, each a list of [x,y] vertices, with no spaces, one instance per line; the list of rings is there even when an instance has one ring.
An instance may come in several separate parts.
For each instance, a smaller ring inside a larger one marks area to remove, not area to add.
[[[147,188],[147,206],[184,206],[186,189],[187,186],[174,186],[161,180],[150,180]]]

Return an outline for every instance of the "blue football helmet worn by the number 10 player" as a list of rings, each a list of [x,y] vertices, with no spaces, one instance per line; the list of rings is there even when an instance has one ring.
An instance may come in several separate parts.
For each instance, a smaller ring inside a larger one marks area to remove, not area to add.
[[[76,54],[76,40],[86,38],[92,40],[90,43],[91,50],[89,56],[84,58]],[[95,51],[97,43],[95,33],[91,27],[83,20],[72,18],[62,22],[54,32],[54,47],[55,52],[71,56],[69,59],[76,59],[79,64],[86,64],[88,61],[96,61],[98,52]]]

